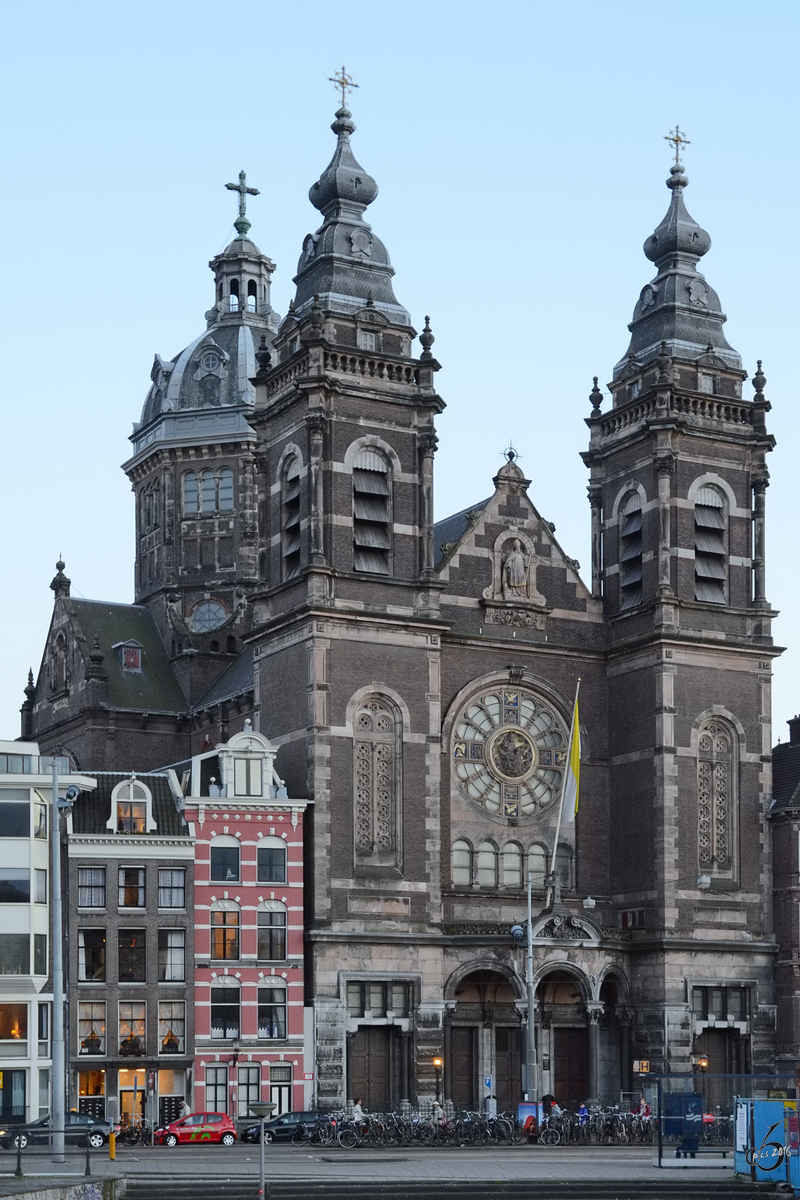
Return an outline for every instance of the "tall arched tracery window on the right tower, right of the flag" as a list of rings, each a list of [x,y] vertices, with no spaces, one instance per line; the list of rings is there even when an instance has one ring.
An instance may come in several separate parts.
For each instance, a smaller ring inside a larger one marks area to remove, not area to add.
[[[722,721],[705,721],[697,743],[697,844],[704,874],[730,875],[736,743]]]

